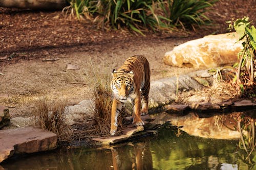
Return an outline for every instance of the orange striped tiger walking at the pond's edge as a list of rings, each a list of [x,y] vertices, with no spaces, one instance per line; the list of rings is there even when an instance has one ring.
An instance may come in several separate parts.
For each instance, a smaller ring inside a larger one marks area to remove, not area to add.
[[[111,130],[117,131],[117,117],[124,103],[132,103],[133,125],[143,126],[141,115],[148,113],[148,93],[150,92],[150,63],[143,55],[127,58],[123,65],[112,71],[111,89],[113,103],[111,110]]]

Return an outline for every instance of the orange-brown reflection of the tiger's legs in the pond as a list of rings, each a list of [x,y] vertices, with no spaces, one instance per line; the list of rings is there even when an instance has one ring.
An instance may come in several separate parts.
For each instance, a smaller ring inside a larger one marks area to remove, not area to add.
[[[142,169],[153,169],[153,161],[150,150],[150,145],[148,141],[130,143],[130,146],[133,147],[133,152],[130,157],[127,155],[122,155],[127,153],[123,151],[123,148],[114,148],[112,149],[112,160],[114,170],[120,169],[133,169],[133,170],[142,170]],[[129,152],[128,152],[129,153]],[[127,164],[130,163],[130,164]]]

